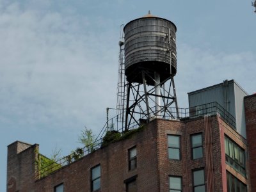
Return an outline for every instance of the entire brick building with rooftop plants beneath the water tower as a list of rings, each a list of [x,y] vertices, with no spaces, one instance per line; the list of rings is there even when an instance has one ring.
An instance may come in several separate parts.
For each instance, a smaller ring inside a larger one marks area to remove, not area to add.
[[[47,166],[38,144],[15,141],[8,146],[7,191],[256,191],[256,95],[243,104],[239,129],[211,102],[178,120],[152,118],[128,132],[112,131],[119,137]]]

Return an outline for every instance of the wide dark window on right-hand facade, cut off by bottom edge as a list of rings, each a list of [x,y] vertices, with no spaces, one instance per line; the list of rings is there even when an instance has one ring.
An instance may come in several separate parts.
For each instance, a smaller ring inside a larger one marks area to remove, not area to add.
[[[246,185],[234,177],[231,173],[227,172],[227,192],[246,192]]]

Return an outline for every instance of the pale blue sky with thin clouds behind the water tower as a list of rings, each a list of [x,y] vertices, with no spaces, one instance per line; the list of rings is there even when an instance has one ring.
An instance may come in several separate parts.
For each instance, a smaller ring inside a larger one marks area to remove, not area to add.
[[[179,107],[225,79],[256,92],[251,1],[0,0],[0,191],[10,143],[67,156],[84,126],[99,133],[116,106],[120,25],[148,10],[177,26]]]

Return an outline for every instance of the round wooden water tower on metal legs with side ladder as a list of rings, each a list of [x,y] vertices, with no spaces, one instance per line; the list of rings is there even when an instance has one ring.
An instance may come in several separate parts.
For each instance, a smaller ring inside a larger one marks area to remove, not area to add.
[[[179,118],[173,22],[148,15],[131,20],[120,38],[118,104],[125,129],[152,118]],[[124,76],[125,74],[125,76]],[[126,77],[126,79],[125,79]]]

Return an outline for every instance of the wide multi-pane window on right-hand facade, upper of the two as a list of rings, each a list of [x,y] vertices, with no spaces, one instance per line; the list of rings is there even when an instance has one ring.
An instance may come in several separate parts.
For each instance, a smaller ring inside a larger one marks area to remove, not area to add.
[[[225,137],[226,163],[237,172],[245,175],[244,150],[230,138]]]

